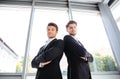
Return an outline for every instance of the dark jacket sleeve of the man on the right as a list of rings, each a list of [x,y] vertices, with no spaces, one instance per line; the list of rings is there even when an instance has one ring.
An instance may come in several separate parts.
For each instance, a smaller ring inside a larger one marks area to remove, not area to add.
[[[66,35],[64,37],[64,44],[65,44],[65,51],[70,50],[72,53],[74,53],[77,56],[85,56],[86,49],[80,46],[71,36]]]

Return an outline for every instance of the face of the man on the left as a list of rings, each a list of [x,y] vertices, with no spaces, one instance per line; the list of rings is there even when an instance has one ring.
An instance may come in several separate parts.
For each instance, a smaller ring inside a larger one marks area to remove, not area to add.
[[[57,35],[57,30],[54,26],[48,26],[47,27],[47,35],[48,38],[54,38]]]

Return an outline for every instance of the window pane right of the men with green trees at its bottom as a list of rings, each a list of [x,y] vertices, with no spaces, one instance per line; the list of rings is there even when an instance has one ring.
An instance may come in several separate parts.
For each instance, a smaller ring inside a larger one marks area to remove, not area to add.
[[[94,62],[90,63],[91,71],[116,71],[117,65],[98,13],[73,12],[78,23],[77,37],[93,54]]]

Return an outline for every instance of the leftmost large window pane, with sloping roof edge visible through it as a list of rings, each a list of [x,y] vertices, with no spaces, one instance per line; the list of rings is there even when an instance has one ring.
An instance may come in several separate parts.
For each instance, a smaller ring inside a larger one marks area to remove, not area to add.
[[[0,7],[0,73],[22,72],[29,8]]]

